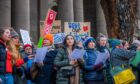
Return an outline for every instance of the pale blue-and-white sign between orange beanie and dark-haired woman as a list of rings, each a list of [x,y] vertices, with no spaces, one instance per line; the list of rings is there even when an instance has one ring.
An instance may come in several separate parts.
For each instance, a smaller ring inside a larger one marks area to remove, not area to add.
[[[58,33],[54,35],[54,44],[60,44],[63,43],[63,40],[65,38],[65,34],[64,33]]]

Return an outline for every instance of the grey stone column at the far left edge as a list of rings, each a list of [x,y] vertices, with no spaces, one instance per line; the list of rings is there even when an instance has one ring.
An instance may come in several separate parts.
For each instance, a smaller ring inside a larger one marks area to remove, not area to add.
[[[11,0],[0,0],[0,26],[11,26]]]

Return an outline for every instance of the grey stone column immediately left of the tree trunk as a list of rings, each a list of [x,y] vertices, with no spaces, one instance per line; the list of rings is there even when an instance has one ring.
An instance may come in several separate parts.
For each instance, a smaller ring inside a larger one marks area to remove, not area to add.
[[[102,33],[107,35],[106,21],[103,9],[100,4],[101,0],[96,0],[96,28],[97,34]]]

